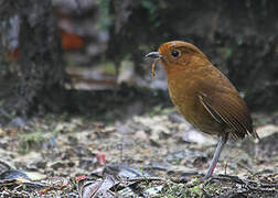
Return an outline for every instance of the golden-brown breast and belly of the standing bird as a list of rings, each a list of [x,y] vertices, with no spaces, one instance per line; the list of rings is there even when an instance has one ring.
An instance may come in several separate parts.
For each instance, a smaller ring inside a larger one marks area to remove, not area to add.
[[[218,134],[222,127],[200,102],[200,75],[194,73],[168,73],[168,88],[172,102],[186,121],[203,132]]]

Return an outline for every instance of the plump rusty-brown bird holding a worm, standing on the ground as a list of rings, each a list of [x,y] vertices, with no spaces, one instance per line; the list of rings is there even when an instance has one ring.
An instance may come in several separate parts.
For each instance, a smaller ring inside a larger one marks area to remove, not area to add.
[[[184,119],[200,131],[220,136],[209,170],[201,179],[213,175],[229,136],[258,139],[247,106],[236,88],[196,46],[172,41],[162,44],[159,52],[147,54],[146,58],[154,58],[153,76],[157,63],[162,63],[171,100]]]

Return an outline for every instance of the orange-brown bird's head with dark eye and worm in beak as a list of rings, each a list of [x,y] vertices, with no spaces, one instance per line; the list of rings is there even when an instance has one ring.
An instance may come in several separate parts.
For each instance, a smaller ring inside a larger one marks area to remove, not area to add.
[[[158,52],[151,52],[146,58],[153,58],[152,75],[154,76],[154,67],[161,62],[167,72],[174,69],[186,69],[189,66],[205,65],[210,61],[193,44],[182,41],[171,41],[160,45]]]

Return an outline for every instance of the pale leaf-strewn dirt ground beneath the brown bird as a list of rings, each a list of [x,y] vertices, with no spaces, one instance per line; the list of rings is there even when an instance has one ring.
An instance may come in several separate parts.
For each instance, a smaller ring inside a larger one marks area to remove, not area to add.
[[[216,138],[172,108],[107,122],[46,114],[0,128],[0,197],[278,197],[278,113],[253,114],[260,141]]]

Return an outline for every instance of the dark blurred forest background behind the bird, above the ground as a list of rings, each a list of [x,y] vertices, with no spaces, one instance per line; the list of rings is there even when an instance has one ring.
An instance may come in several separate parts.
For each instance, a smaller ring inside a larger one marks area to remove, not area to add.
[[[0,4],[2,119],[40,111],[94,109],[98,114],[115,106],[133,106],[137,99],[141,102],[129,110],[135,113],[141,113],[147,101],[150,107],[171,106],[163,70],[158,67],[151,79],[151,63],[143,57],[172,40],[199,46],[252,110],[278,107],[277,1],[1,0]]]

